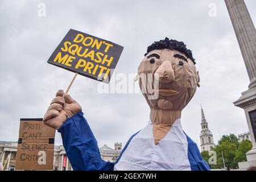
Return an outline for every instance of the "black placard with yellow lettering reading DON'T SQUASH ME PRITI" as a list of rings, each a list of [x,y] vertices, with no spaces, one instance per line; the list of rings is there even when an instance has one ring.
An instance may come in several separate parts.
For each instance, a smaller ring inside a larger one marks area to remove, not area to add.
[[[108,83],[122,51],[122,46],[71,29],[47,62]]]

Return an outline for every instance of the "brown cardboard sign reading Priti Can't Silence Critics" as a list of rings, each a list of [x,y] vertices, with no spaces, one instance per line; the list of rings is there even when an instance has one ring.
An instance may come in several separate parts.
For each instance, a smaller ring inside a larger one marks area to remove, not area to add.
[[[43,119],[20,119],[16,170],[52,170],[55,129]]]

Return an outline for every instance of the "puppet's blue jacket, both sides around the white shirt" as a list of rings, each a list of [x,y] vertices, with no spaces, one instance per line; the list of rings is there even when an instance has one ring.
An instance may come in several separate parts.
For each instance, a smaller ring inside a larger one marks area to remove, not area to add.
[[[82,112],[68,118],[59,128],[59,133],[61,133],[63,146],[74,170],[112,171],[114,165],[118,163],[123,152],[131,142],[131,139],[133,139],[139,132],[131,136],[115,163],[106,162],[101,159],[97,140],[94,137],[92,130],[90,130]],[[187,135],[186,137],[188,142],[188,159],[191,169],[209,170],[208,164],[201,158],[196,143]]]

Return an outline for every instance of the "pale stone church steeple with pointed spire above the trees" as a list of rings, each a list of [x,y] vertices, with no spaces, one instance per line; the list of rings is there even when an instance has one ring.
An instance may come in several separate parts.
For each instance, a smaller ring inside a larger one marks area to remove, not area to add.
[[[200,133],[200,142],[201,142],[201,151],[210,151],[210,147],[214,146],[212,131],[209,130],[208,122],[204,116],[204,110],[201,106],[201,133]]]

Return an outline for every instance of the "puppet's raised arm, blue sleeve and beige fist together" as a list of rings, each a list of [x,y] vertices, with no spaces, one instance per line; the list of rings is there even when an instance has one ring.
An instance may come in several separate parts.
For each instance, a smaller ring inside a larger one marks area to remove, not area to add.
[[[43,121],[61,133],[74,170],[113,170],[114,163],[101,159],[97,140],[83,116],[81,106],[63,90],[56,93]]]

